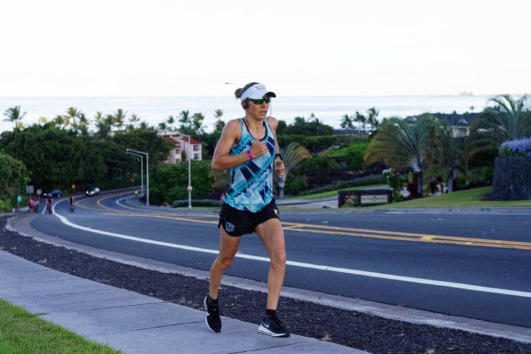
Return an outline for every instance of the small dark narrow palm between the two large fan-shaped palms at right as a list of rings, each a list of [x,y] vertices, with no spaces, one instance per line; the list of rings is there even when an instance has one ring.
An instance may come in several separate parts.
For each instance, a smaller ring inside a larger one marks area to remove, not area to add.
[[[445,121],[437,123],[433,144],[428,150],[431,170],[446,180],[448,193],[454,190],[454,178],[463,171],[463,138],[454,136],[454,131]]]

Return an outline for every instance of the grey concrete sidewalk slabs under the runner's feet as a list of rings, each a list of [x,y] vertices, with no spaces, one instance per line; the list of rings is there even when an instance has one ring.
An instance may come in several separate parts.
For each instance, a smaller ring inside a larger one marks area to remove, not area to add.
[[[205,312],[46,268],[0,251],[0,298],[124,353],[366,353],[330,342],[257,333],[223,317],[212,333]]]

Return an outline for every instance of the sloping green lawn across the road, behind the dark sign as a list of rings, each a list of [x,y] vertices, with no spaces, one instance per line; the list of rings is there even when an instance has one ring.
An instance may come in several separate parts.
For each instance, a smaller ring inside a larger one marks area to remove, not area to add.
[[[530,207],[529,201],[481,201],[480,198],[492,192],[492,187],[467,189],[451,192],[440,196],[414,199],[400,203],[392,203],[369,207],[370,209],[389,209],[402,207]]]

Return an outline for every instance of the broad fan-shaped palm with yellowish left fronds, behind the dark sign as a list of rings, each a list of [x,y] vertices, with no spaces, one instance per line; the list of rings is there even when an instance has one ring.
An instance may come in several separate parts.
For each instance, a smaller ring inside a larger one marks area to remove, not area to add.
[[[409,167],[417,178],[417,193],[423,195],[422,173],[427,169],[427,153],[434,136],[432,115],[420,115],[414,124],[400,118],[389,118],[365,152],[365,164],[384,160],[393,169]]]

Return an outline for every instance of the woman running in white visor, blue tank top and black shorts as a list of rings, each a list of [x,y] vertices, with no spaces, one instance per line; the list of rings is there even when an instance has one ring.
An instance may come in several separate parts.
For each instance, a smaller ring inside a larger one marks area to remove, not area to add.
[[[219,214],[219,254],[210,268],[209,295],[205,297],[207,326],[221,332],[218,289],[223,272],[230,267],[243,234],[256,232],[271,261],[268,300],[259,333],[289,337],[290,331],[277,317],[277,306],[286,271],[286,245],[274,203],[273,171],[285,167],[275,131],[277,120],[266,116],[271,97],[263,84],[251,82],[234,93],[241,100],[245,117],[225,125],[212,158],[212,169],[229,169],[231,183]]]

